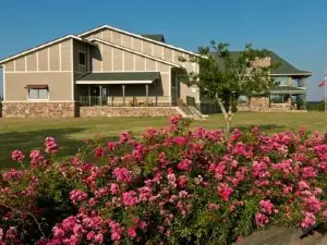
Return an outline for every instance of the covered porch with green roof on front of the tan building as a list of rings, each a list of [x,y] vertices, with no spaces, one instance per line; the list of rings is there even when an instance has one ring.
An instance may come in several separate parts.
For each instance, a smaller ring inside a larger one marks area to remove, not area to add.
[[[164,107],[159,72],[90,73],[75,82],[81,107]]]

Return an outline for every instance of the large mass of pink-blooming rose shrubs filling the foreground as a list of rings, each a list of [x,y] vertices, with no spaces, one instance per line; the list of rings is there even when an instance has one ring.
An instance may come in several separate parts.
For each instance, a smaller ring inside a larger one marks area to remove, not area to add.
[[[70,160],[56,139],[14,150],[0,180],[0,244],[231,244],[256,229],[327,219],[327,136],[304,128],[196,128],[179,115],[142,138],[86,140]],[[29,164],[29,166],[27,166]]]

